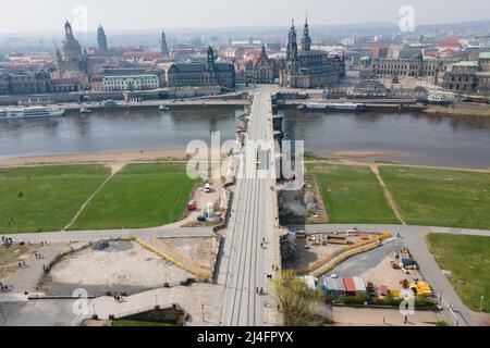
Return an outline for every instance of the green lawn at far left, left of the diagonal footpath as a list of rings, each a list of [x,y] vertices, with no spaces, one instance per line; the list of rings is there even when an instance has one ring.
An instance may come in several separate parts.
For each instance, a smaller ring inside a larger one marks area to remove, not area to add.
[[[0,169],[0,233],[60,231],[109,175],[100,165]]]

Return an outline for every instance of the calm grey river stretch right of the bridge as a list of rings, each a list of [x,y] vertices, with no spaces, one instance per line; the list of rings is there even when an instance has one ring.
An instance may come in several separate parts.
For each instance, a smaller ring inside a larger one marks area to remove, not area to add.
[[[417,113],[322,113],[283,111],[285,137],[304,139],[317,156],[339,151],[355,158],[421,165],[490,167],[490,116],[431,116]]]

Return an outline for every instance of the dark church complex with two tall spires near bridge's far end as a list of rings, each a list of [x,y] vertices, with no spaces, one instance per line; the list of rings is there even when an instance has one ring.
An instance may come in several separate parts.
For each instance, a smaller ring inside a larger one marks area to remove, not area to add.
[[[339,84],[345,77],[345,57],[311,50],[308,21],[298,51],[296,29],[291,26],[287,37],[286,64],[280,73],[281,86],[292,88],[320,88]]]

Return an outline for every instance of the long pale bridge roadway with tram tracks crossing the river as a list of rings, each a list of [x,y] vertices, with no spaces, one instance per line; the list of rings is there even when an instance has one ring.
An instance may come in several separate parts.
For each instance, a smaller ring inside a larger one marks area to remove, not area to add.
[[[237,178],[223,250],[229,264],[221,324],[226,326],[265,324],[265,297],[257,294],[257,288],[266,288],[268,271],[265,269],[267,249],[260,244],[264,238],[273,243],[273,216],[277,215],[273,201],[277,196],[271,167],[274,167],[275,157],[273,150],[265,153],[258,149],[257,141],[272,140],[271,116],[270,91],[261,88],[254,94],[240,164],[240,173],[245,175]],[[262,170],[259,171],[258,166]]]

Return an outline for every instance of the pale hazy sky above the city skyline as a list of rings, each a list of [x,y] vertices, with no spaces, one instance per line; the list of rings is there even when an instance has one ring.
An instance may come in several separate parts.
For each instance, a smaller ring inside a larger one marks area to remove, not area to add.
[[[403,5],[415,9],[416,24],[490,20],[489,0],[0,0],[0,33],[61,30],[83,18],[77,5],[89,30],[283,26],[306,11],[311,25],[399,23]]]

